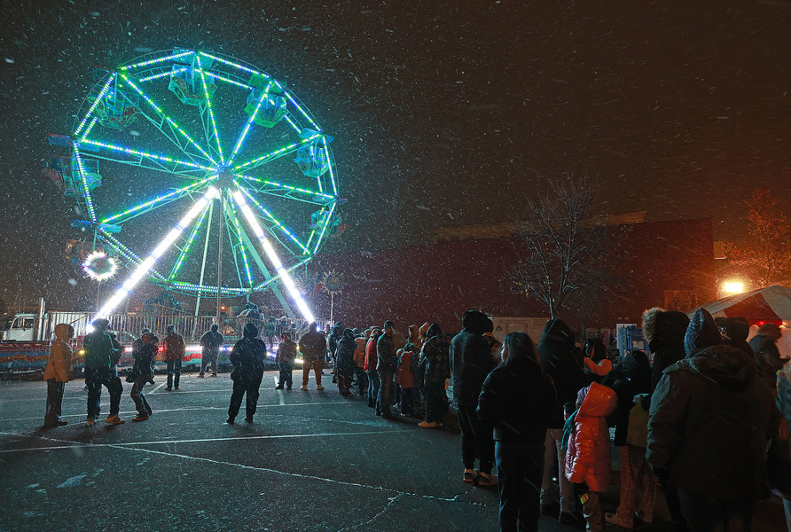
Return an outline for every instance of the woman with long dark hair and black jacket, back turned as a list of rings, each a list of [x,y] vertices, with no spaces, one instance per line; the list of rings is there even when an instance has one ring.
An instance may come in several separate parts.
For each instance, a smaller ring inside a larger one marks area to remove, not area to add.
[[[505,336],[503,362],[483,381],[477,413],[494,427],[500,532],[538,530],[546,428],[558,395],[524,332]]]

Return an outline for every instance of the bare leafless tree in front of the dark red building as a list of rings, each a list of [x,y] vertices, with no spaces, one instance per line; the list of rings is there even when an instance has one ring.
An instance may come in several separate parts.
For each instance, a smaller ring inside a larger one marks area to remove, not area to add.
[[[547,194],[528,200],[513,223],[525,257],[508,272],[507,282],[513,293],[543,301],[551,317],[572,302],[593,305],[606,292],[605,257],[612,242],[606,217],[593,216],[600,192],[597,180],[563,176]]]

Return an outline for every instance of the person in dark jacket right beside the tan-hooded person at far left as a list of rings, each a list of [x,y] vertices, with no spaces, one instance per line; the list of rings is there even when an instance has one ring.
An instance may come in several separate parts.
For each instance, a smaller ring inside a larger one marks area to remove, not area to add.
[[[99,398],[102,385],[110,394],[110,415],[106,422],[120,425],[123,419],[118,415],[123,387],[121,379],[113,369],[115,351],[110,336],[105,332],[110,322],[103,317],[93,321],[93,332],[85,335],[82,349],[85,352],[85,386],[88,387],[87,426],[92,426],[99,412]]]

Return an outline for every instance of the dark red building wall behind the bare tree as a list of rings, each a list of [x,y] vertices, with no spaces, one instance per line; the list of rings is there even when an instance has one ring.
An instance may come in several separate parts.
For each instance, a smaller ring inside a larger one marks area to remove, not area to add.
[[[643,310],[664,307],[668,294],[676,295],[677,302],[688,300],[682,302],[690,306],[714,299],[709,219],[632,223],[614,232],[620,235],[619,245],[608,261],[621,280],[586,325],[639,324]],[[466,239],[325,255],[310,268],[344,274],[345,286],[334,297],[333,308],[333,317],[344,325],[364,328],[392,319],[404,331],[407,325],[428,321],[452,332],[461,328],[464,311],[476,307],[492,316],[547,316],[539,301],[510,293],[505,285],[505,272],[519,260],[520,251],[520,239]],[[328,294],[317,290],[309,300],[317,316],[329,317]],[[573,310],[562,317],[579,328]]]

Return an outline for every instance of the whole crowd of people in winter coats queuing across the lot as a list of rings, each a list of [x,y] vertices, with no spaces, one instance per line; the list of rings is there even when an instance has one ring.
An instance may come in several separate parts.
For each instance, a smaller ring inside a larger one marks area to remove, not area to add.
[[[83,346],[87,425],[98,418],[102,386],[110,394],[106,422],[123,423],[115,368],[120,346],[106,333],[106,320],[94,325]],[[314,372],[316,389],[324,390],[322,369],[330,359],[340,395],[367,398],[382,419],[413,417],[422,419],[420,428],[440,428],[452,402],[461,432],[460,480],[497,486],[503,531],[537,530],[542,513],[591,532],[607,523],[633,528],[654,519],[657,489],[679,532],[749,530],[755,502],[769,489],[783,497],[791,531],[791,365],[776,345],[778,325],[763,325],[748,342],[743,318],[715,320],[702,308],[691,319],[648,309],[643,330],[650,359],[635,350],[616,364],[600,339],[577,347],[575,332],[561,319],[549,320],[537,343],[524,332],[498,341],[478,310],[466,311],[461,325],[455,334],[438,324],[410,325],[402,335],[390,320],[364,330],[339,322],[326,332],[313,323],[298,341],[283,332],[277,388],[292,389],[301,356],[300,389],[308,389]],[[67,424],[60,402],[63,384],[74,378],[73,335],[68,325],[55,328],[44,373],[45,426]],[[158,341],[145,330],[133,346],[127,381],[134,421],[152,415],[143,388],[153,377]],[[204,334],[199,377],[208,364],[216,375],[222,342],[215,326]],[[168,389],[178,389],[184,339],[170,326],[162,345]],[[246,421],[253,423],[265,356],[260,332],[247,324],[231,349],[227,423],[235,422],[245,395]],[[604,512],[613,445],[620,500],[615,512]]]

